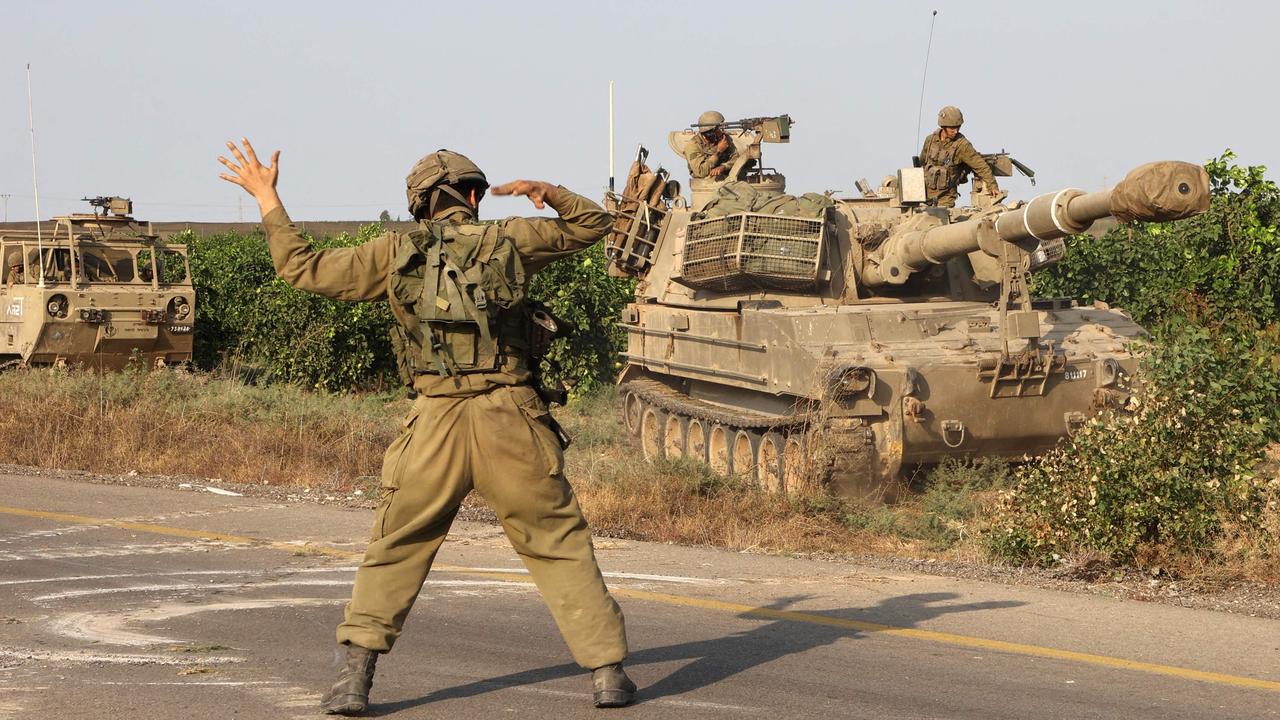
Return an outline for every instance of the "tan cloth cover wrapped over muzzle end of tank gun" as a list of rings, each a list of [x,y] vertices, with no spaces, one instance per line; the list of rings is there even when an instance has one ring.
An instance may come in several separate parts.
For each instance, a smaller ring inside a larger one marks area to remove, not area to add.
[[[1165,160],[1130,172],[1111,192],[1111,214],[1123,222],[1180,220],[1208,210],[1208,173]]]

